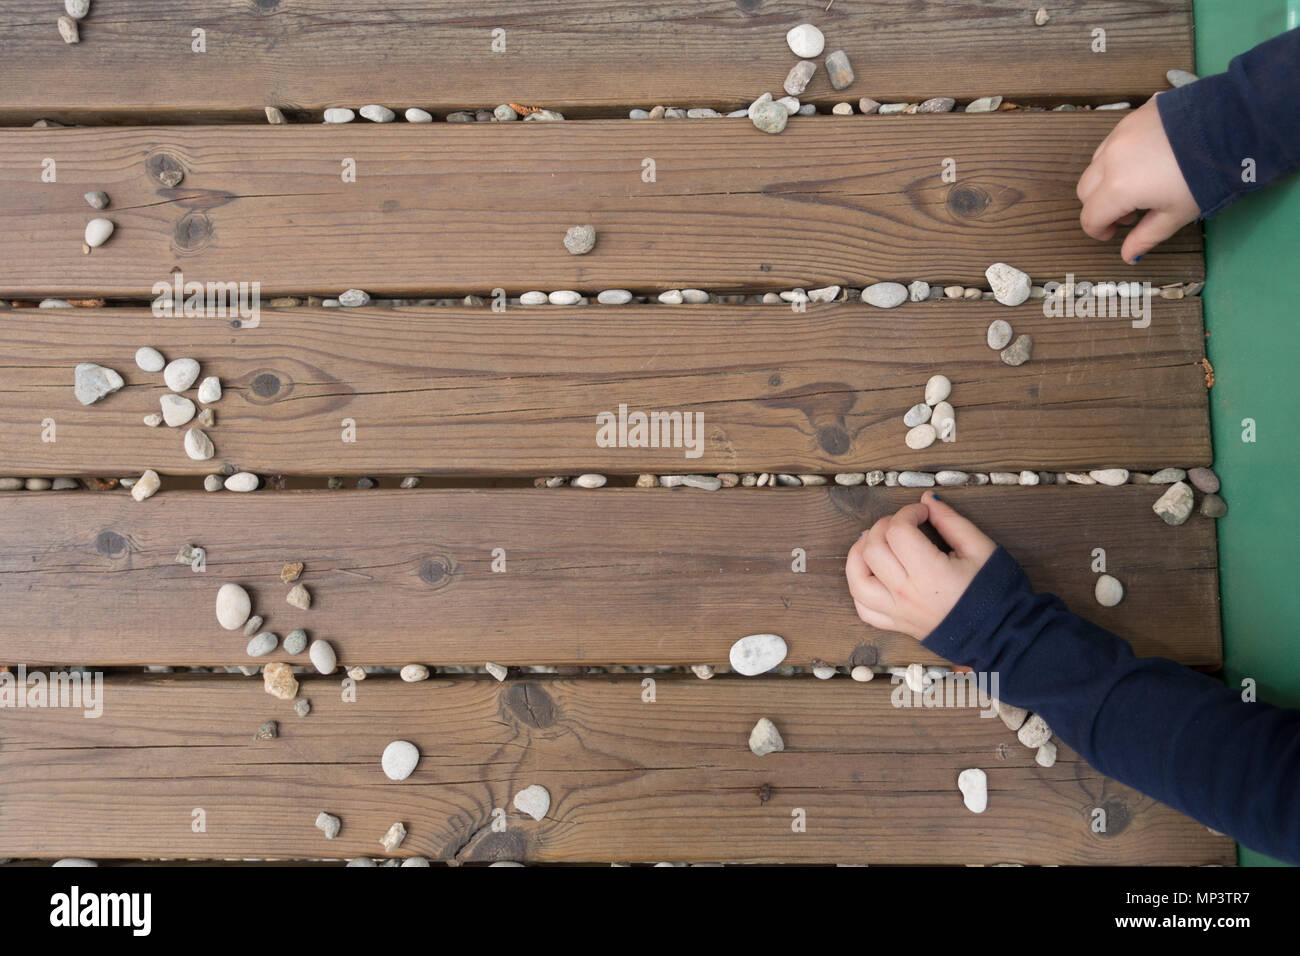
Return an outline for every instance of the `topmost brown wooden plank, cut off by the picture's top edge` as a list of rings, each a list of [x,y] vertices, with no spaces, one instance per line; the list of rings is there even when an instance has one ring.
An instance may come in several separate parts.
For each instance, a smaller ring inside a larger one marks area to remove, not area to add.
[[[1166,88],[1171,66],[1192,69],[1187,0],[1057,0],[1041,29],[1018,0],[827,7],[135,0],[92,10],[81,22],[82,42],[68,47],[51,17],[4,0],[0,61],[22,68],[6,72],[0,121],[131,112],[192,121],[260,114],[266,104],[321,111],[363,101],[446,111],[515,100],[578,114],[655,103],[733,109],[780,88],[794,64],[785,31],[806,21],[823,29],[827,52],[849,53],[857,73],[836,92],[819,69],[805,98],[822,104],[863,95],[1121,99]],[[1098,26],[1104,55],[1092,51]],[[204,53],[191,52],[195,27],[207,31]],[[506,48],[494,53],[497,29]]]

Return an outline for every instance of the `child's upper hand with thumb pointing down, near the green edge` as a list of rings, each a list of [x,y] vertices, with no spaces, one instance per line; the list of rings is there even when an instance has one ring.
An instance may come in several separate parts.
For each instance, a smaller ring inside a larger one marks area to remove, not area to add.
[[[1101,140],[1075,193],[1083,203],[1079,213],[1083,232],[1102,242],[1115,234],[1117,225],[1138,221],[1139,209],[1148,211],[1128,230],[1119,250],[1127,263],[1136,261],[1201,212],[1178,168],[1154,96]]]

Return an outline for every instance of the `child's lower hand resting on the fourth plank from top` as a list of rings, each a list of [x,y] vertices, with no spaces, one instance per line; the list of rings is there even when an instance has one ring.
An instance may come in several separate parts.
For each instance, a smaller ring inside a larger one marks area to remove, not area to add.
[[[932,492],[920,501],[872,524],[849,549],[845,567],[858,617],[916,640],[939,627],[997,550],[991,537]],[[927,519],[952,554],[920,533],[918,525]]]

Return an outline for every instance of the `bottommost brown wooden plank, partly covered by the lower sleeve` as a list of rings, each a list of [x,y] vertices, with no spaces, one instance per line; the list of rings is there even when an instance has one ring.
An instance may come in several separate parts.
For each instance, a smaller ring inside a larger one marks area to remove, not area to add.
[[[897,708],[884,682],[660,679],[367,680],[355,702],[307,680],[298,718],[260,680],[109,679],[103,715],[5,708],[5,856],[400,856],[459,862],[1231,864],[1232,842],[1109,780],[1065,745],[1035,765],[972,708]],[[753,756],[768,715],[786,749]],[[278,719],[280,736],[254,741]],[[416,744],[412,777],[380,769]],[[988,809],[962,805],[979,766]],[[512,809],[538,783],[541,822]],[[766,800],[764,800],[766,796]],[[1093,809],[1108,830],[1095,834]],[[192,812],[205,813],[194,832]],[[493,832],[493,808],[507,829]],[[802,809],[806,832],[792,830]],[[328,842],[326,810],[342,821]]]

